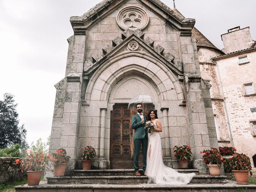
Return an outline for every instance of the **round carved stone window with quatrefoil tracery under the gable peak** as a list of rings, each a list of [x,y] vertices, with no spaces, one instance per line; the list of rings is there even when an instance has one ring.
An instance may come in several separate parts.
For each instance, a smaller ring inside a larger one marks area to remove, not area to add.
[[[148,25],[149,18],[142,8],[130,6],[118,12],[116,22],[122,30],[143,30]]]

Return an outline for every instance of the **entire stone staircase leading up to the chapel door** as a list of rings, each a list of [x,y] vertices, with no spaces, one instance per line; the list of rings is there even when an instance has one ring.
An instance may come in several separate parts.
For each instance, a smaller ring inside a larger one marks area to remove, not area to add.
[[[238,185],[226,176],[198,174],[195,169],[180,169],[182,173],[196,173],[187,185],[147,184],[147,176],[134,176],[134,170],[74,170],[74,176],[48,177],[38,186],[16,186],[16,192],[237,192],[247,188],[256,192],[256,185]]]

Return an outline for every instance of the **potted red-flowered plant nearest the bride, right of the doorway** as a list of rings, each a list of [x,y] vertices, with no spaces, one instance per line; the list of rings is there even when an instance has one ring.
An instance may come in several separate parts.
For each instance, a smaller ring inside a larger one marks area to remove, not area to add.
[[[174,146],[172,149],[174,150],[175,153],[173,158],[176,158],[179,161],[180,168],[188,168],[188,163],[192,156],[190,146]]]

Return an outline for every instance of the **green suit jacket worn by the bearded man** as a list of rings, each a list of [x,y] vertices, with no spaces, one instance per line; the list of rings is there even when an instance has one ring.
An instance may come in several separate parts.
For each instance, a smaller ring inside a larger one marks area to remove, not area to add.
[[[145,129],[147,117],[144,115],[144,123],[141,122],[141,118],[138,114],[132,116],[132,129],[135,129],[133,139],[148,138],[148,130]]]

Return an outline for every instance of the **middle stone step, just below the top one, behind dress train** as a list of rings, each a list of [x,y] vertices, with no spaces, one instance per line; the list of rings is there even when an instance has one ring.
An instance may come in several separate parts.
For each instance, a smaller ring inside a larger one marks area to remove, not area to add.
[[[190,183],[224,183],[226,176],[194,176]],[[48,184],[146,184],[147,176],[63,176],[47,177]]]

